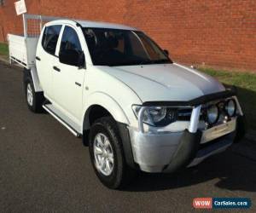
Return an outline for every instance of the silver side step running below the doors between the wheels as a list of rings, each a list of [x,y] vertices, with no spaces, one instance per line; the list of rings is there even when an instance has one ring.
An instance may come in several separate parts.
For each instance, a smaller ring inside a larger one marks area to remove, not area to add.
[[[59,121],[63,126],[67,128],[67,130],[71,131],[73,135],[76,137],[80,137],[81,134],[79,133],[79,125],[74,124],[73,121],[70,120],[70,118],[67,118],[63,113],[61,113],[59,110],[57,110],[55,107],[53,107],[52,104],[47,103],[43,105],[43,108],[49,112],[57,121]]]

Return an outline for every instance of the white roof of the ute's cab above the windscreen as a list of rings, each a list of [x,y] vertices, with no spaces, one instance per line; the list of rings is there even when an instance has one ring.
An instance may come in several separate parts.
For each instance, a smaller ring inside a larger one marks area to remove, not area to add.
[[[47,23],[47,25],[52,24],[74,24],[78,23],[82,27],[92,27],[92,28],[109,28],[109,29],[120,29],[120,30],[131,30],[137,31],[137,28],[131,26],[125,26],[120,24],[113,24],[108,22],[92,21],[92,20],[52,20]]]

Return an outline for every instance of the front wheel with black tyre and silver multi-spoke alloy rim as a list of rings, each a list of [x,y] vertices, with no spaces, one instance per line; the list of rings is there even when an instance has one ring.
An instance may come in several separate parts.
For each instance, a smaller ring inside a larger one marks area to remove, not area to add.
[[[113,118],[99,118],[92,125],[89,150],[96,176],[106,187],[125,187],[136,174],[125,162],[122,141]]]

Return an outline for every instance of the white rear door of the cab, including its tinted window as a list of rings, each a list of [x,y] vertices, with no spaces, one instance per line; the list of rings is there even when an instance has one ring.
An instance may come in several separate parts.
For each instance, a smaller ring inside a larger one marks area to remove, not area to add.
[[[55,50],[60,32],[61,25],[44,27],[44,34],[42,39],[39,40],[37,48],[36,65],[38,69],[38,78],[44,89],[44,95],[49,99],[53,98],[52,63],[56,57]]]

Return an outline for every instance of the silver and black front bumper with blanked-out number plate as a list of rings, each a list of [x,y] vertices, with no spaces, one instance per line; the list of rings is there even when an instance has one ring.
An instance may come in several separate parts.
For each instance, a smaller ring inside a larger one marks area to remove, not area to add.
[[[150,133],[129,128],[134,161],[146,172],[172,172],[201,163],[233,143],[241,119],[208,130]]]

